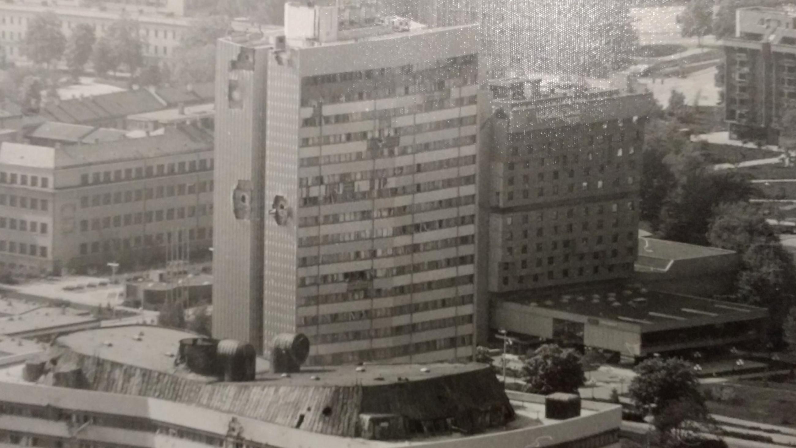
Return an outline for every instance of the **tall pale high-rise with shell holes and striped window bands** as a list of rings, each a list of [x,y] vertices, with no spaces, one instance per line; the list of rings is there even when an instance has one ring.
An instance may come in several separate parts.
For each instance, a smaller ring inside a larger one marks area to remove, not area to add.
[[[312,364],[470,356],[474,26],[366,2],[285,22],[219,43],[213,335],[302,332]]]

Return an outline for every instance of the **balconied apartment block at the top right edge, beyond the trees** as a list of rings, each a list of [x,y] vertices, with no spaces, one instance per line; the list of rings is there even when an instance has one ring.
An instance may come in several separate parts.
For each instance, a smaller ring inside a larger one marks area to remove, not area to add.
[[[736,35],[721,43],[730,136],[777,144],[782,110],[796,101],[796,12],[740,8]]]

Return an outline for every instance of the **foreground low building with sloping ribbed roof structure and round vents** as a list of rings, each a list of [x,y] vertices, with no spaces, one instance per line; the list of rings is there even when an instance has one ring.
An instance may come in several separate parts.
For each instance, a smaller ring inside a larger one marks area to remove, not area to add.
[[[300,352],[306,355],[306,350],[298,346],[291,356],[301,360]],[[0,375],[0,443],[619,446],[617,405],[574,399],[563,413],[556,412],[546,403],[560,403],[556,397],[507,394],[482,364],[369,364],[306,371],[295,366],[283,375],[284,366],[275,367],[279,361],[271,364],[252,357],[253,352],[251,345],[236,341],[154,326],[61,336],[49,352],[27,361],[21,375],[18,368],[4,369],[17,375]],[[228,368],[236,360],[247,367]],[[242,376],[226,379],[227,373]]]

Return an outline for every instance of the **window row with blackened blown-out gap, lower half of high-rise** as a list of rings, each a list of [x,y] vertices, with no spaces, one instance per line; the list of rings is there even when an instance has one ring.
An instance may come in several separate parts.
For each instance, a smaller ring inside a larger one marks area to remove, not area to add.
[[[454,288],[456,286],[473,285],[473,275],[441,278],[435,281],[412,283],[411,285],[393,286],[392,288],[373,288],[365,284],[361,288],[352,288],[345,293],[308,295],[298,298],[298,306],[329,305],[347,301],[361,301],[364,299],[377,299],[380,297],[402,296],[404,294],[424,293],[438,289]],[[355,285],[353,285],[355,286]]]

